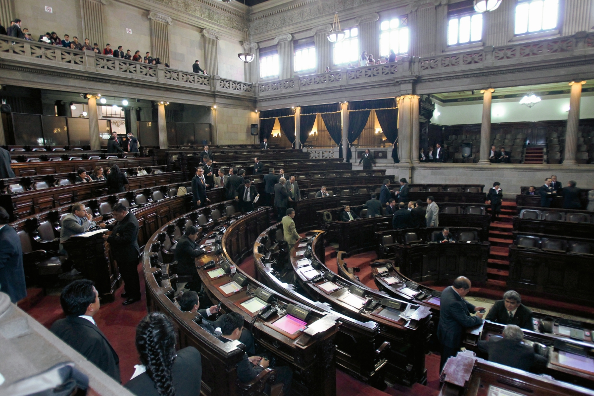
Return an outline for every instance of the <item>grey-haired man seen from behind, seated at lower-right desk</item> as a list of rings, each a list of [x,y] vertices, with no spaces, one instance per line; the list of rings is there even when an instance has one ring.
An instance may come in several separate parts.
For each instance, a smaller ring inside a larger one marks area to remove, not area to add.
[[[507,325],[503,329],[503,338],[491,336],[488,341],[479,341],[479,350],[489,354],[489,362],[525,371],[545,368],[548,359],[534,353],[533,347],[523,341],[522,329]]]

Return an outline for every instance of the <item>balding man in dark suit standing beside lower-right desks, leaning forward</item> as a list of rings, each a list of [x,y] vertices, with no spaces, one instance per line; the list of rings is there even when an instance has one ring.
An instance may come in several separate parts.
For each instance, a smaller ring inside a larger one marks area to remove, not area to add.
[[[482,323],[482,313],[470,316],[470,312],[484,310],[467,302],[464,297],[470,292],[472,284],[466,277],[457,277],[453,286],[441,292],[440,322],[437,326],[437,338],[441,343],[440,372],[450,356],[456,356],[462,346],[466,328]]]

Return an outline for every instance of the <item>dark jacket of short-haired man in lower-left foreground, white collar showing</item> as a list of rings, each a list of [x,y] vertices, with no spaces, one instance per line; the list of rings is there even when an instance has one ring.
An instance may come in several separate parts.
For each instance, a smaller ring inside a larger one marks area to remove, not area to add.
[[[99,327],[85,318],[69,315],[55,321],[49,330],[116,382],[120,382],[118,354]]]

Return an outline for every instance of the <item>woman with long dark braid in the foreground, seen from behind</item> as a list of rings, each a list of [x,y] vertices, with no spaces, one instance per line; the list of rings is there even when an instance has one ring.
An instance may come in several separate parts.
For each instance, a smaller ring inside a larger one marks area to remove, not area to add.
[[[202,361],[194,347],[175,351],[175,330],[160,312],[151,312],[136,327],[140,366],[125,385],[138,396],[200,395]]]

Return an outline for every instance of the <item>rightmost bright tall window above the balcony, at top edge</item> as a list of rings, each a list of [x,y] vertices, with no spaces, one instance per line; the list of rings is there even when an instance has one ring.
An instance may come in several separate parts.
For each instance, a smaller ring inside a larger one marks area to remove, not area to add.
[[[520,1],[516,5],[514,33],[536,33],[557,27],[558,0]]]

